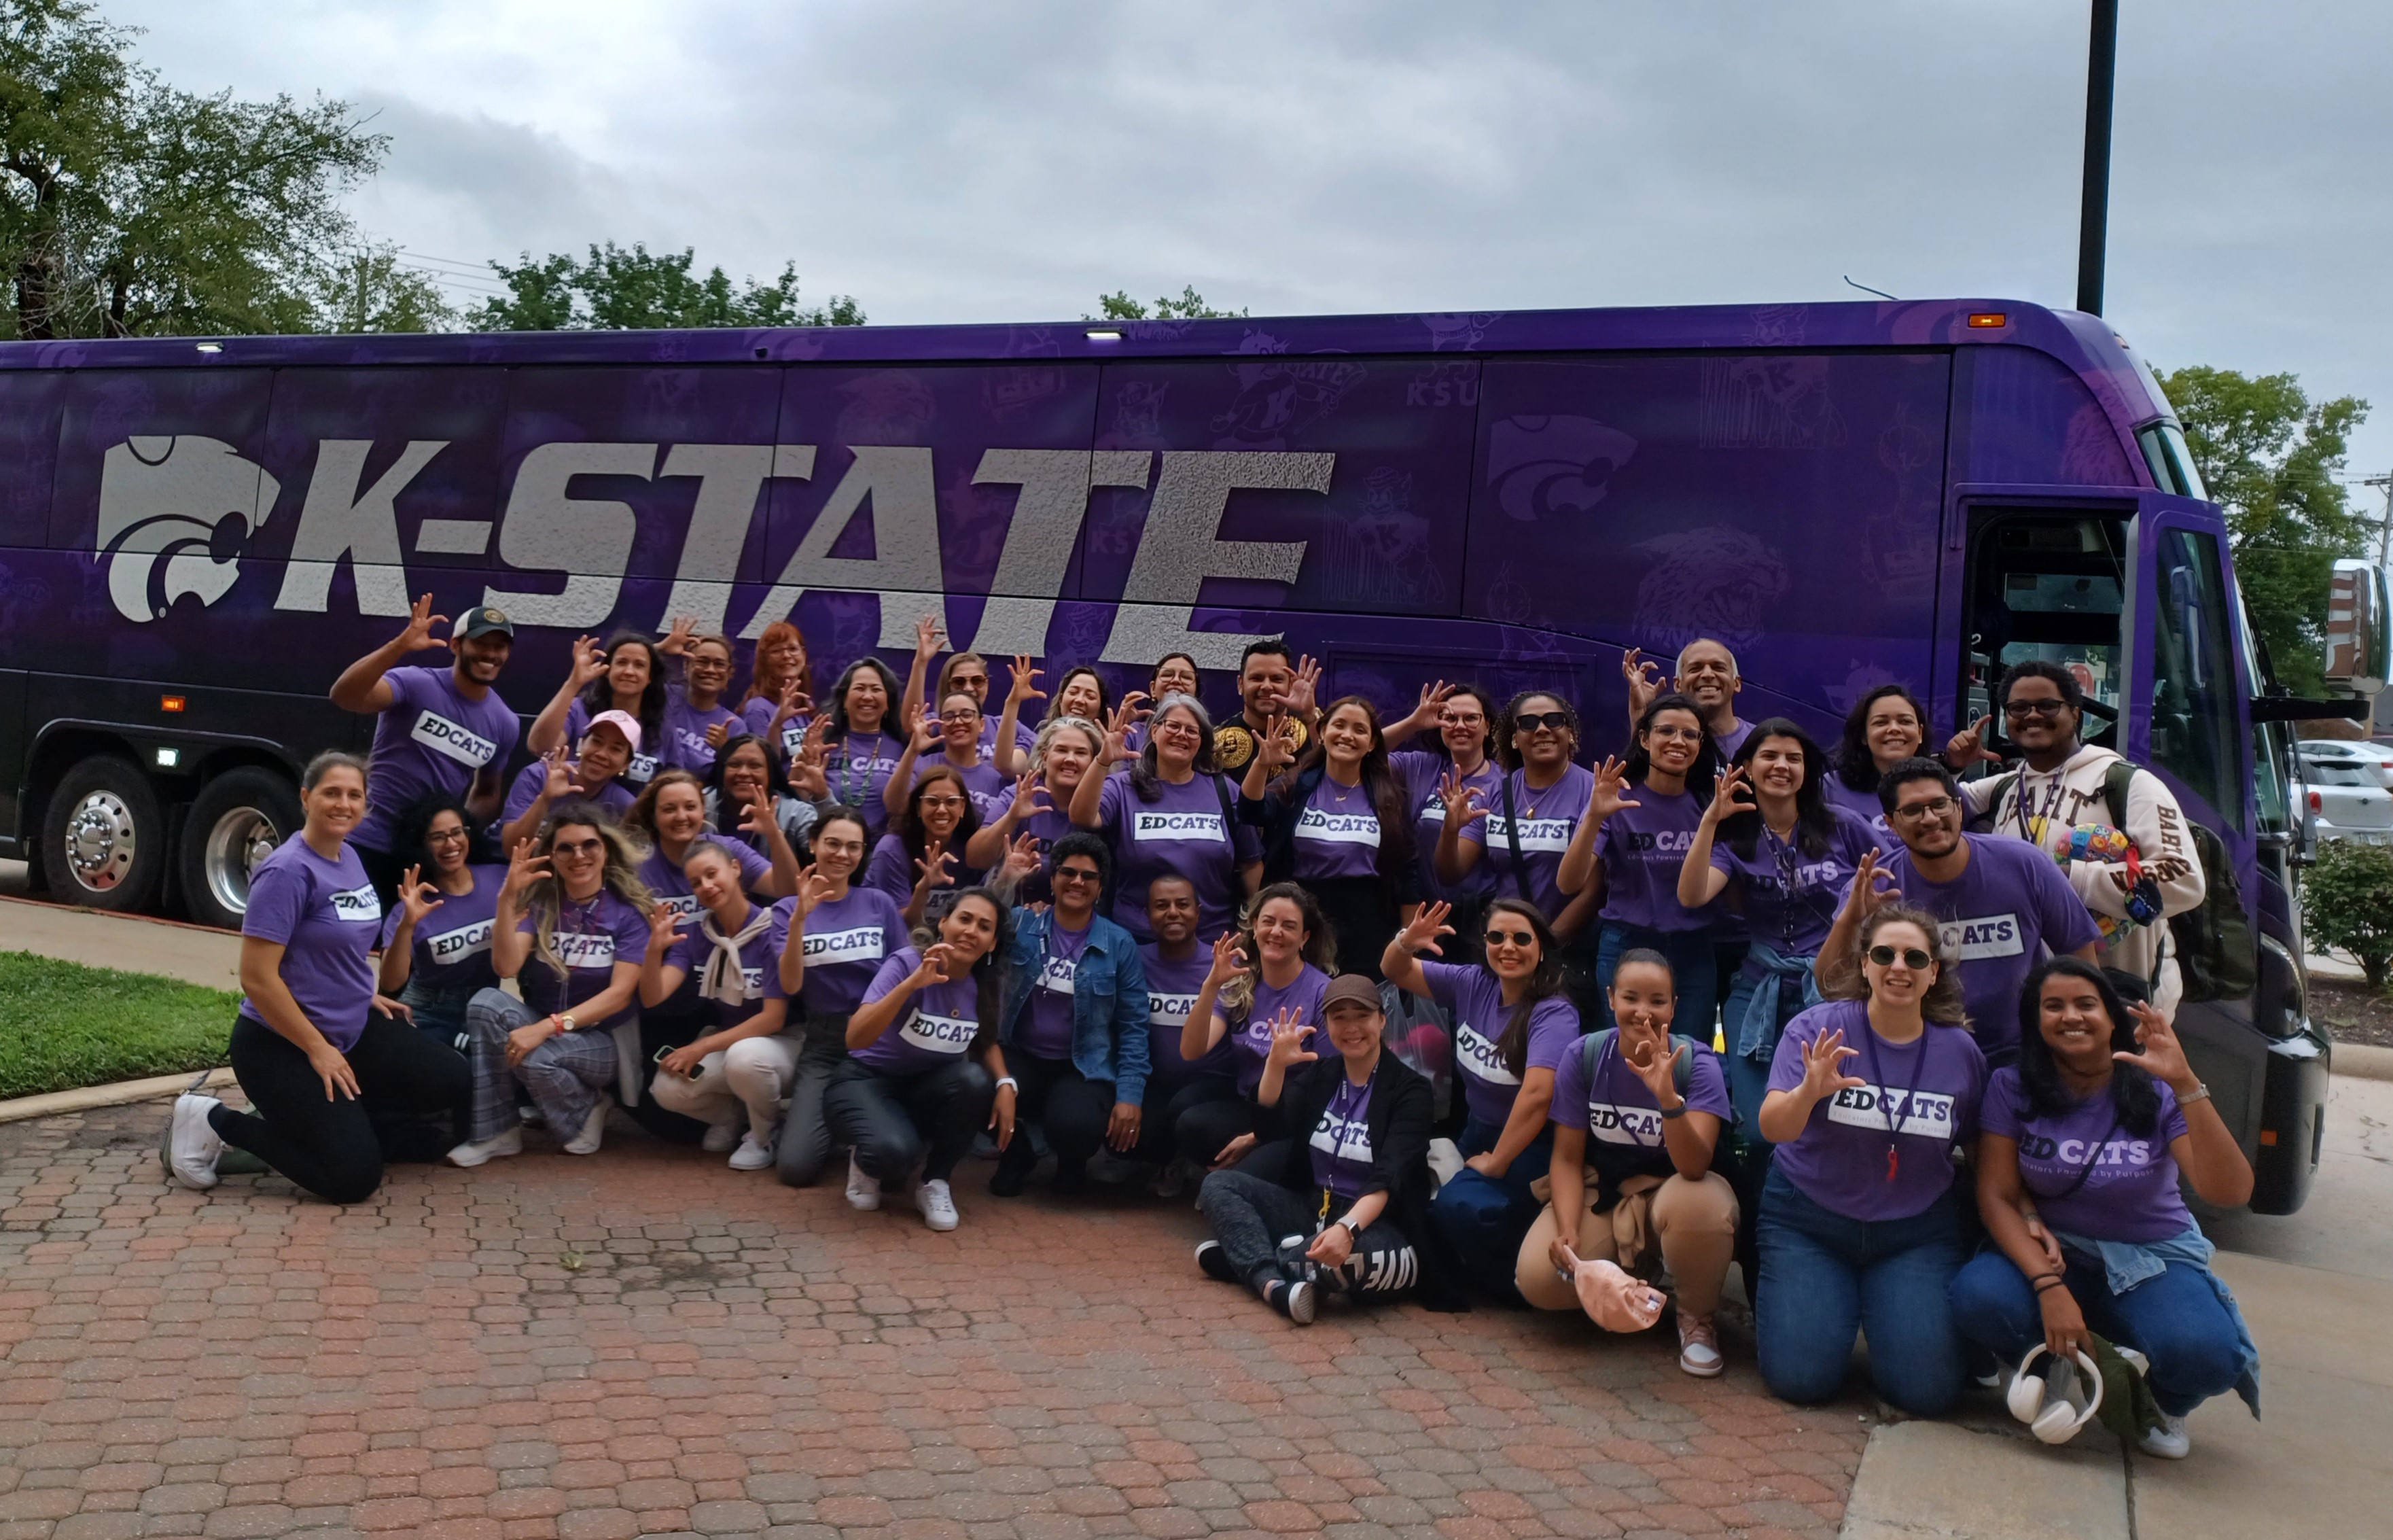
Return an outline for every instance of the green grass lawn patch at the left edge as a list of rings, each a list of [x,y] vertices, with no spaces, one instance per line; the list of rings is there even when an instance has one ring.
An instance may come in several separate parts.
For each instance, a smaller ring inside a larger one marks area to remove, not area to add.
[[[0,1099],[225,1063],[230,989],[0,951]]]

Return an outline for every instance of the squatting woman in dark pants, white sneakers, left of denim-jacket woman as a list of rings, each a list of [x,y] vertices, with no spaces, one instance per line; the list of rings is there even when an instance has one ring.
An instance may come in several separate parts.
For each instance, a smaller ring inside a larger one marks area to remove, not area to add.
[[[847,1061],[823,1092],[823,1116],[854,1150],[847,1202],[878,1209],[890,1183],[921,1166],[914,1207],[952,1231],[955,1164],[981,1128],[998,1152],[1015,1140],[1015,1083],[998,1047],[998,951],[1005,903],[964,889],[921,936],[881,963],[847,1018]]]

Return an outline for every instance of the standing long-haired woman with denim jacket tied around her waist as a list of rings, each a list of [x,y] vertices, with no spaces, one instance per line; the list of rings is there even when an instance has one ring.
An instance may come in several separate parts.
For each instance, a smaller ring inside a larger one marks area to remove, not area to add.
[[[1682,908],[1728,893],[1752,939],[1721,1015],[1728,1090],[1747,1123],[1761,1111],[1778,1035],[1819,1004],[1812,965],[1855,869],[1879,843],[1869,824],[1826,800],[1826,769],[1828,757],[1792,721],[1759,723],[1721,774],[1677,869]]]

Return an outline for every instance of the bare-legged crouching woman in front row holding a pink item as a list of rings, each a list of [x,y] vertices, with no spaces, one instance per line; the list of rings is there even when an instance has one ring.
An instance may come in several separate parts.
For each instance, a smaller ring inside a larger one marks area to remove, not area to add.
[[[1620,953],[1610,1006],[1615,1025],[1570,1044],[1553,1075],[1553,1202],[1520,1243],[1515,1284],[1539,1310],[1577,1310],[1575,1260],[1644,1277],[1661,1262],[1677,1284],[1677,1368],[1709,1380],[1725,1368],[1711,1315],[1737,1248],[1737,1195],[1711,1169],[1735,1121],[1728,1078],[1706,1044],[1670,1035],[1677,989],[1658,951]]]

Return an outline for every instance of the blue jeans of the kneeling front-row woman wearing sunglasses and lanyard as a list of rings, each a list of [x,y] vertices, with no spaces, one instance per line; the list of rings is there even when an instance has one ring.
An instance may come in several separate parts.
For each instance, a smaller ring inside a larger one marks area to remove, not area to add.
[[[1845,1219],[1804,1198],[1785,1171],[1761,1186],[1761,1380],[1780,1401],[1814,1406],[1845,1389],[1855,1332],[1869,1334],[1869,1377],[1914,1418],[1953,1411],[1967,1384],[1946,1291],[1962,1262],[1953,1193],[1910,1219]]]

